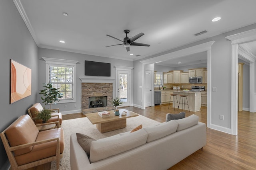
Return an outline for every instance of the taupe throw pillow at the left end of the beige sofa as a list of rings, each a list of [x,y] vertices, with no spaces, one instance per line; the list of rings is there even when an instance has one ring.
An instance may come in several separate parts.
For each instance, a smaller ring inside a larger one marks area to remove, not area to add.
[[[90,156],[90,149],[91,149],[91,143],[92,141],[96,141],[92,137],[89,137],[87,135],[84,135],[82,133],[76,133],[76,138],[79,143],[79,145],[84,149],[88,157]]]

